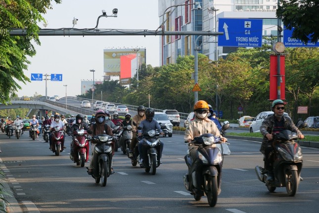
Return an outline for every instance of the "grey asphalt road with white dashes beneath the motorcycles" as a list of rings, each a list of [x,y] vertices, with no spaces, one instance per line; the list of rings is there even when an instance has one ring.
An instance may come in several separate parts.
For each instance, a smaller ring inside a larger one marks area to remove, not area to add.
[[[70,141],[67,136],[67,147]],[[69,148],[55,156],[41,137],[32,141],[26,133],[19,140],[0,133],[1,168],[25,213],[27,201],[40,213],[318,213],[318,149],[303,148],[304,180],[295,197],[287,197],[285,188],[270,193],[257,179],[254,167],[263,165],[260,143],[229,139],[231,155],[224,159],[222,193],[211,208],[206,197],[195,201],[183,186],[187,146],[182,135],[162,141],[163,164],[155,175],[133,167],[119,151],[113,159],[115,174],[106,187],[95,184],[86,168],[70,160]]]

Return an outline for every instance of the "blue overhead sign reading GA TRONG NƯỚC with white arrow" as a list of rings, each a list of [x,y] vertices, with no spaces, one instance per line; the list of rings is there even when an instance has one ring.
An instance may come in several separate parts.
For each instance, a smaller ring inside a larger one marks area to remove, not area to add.
[[[218,36],[219,46],[261,47],[263,34],[262,19],[220,18]]]

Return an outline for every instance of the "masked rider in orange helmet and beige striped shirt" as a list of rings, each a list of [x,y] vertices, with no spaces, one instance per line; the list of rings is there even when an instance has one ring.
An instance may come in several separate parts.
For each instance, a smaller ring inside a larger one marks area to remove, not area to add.
[[[222,142],[226,142],[227,138],[223,137],[220,134],[219,129],[217,128],[216,124],[207,118],[209,113],[209,106],[206,101],[199,100],[194,104],[194,114],[195,118],[192,122],[189,123],[187,128],[185,129],[184,134],[184,140],[185,143],[190,143],[194,137],[198,137],[204,133],[211,133],[217,137],[221,137]],[[189,149],[189,155],[193,159],[193,162],[197,158],[197,149],[198,147],[188,146]],[[194,167],[196,168],[196,167]],[[190,171],[189,173],[192,173],[193,171]],[[201,174],[198,174],[201,175]],[[220,171],[220,177],[222,176],[222,170]],[[200,183],[201,178],[196,178],[196,186],[201,186]],[[200,192],[200,189],[197,189],[198,192]]]

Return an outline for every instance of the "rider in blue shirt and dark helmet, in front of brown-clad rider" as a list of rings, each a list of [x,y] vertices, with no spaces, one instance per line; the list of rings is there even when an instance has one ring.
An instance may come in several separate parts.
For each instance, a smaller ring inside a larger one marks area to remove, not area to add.
[[[146,119],[139,123],[138,127],[141,127],[142,129],[137,130],[138,136],[141,136],[142,133],[146,134],[147,131],[152,130],[152,129],[154,129],[154,130],[157,129],[157,130],[159,130],[161,135],[164,135],[164,132],[161,129],[161,126],[154,119],[154,114],[155,114],[155,111],[152,108],[147,108],[145,110]],[[163,148],[164,148],[163,142],[160,142],[160,147],[156,147],[157,153],[158,153],[158,156],[160,159],[162,157]],[[146,150],[143,149],[143,140],[140,140],[138,143],[138,152],[139,152],[139,164],[143,164],[143,159],[146,158],[146,152],[147,152]]]

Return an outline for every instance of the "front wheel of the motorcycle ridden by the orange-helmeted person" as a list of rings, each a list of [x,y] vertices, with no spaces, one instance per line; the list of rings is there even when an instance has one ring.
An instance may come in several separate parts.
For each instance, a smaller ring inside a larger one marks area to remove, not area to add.
[[[214,207],[217,203],[218,186],[217,176],[206,175],[205,194],[207,196],[208,204]]]

